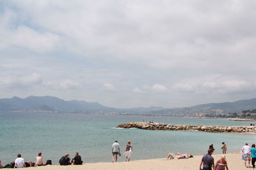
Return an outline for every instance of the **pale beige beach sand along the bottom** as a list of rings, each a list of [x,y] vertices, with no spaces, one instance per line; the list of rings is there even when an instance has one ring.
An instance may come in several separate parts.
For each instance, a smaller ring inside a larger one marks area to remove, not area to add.
[[[214,163],[220,159],[221,155],[212,155]],[[244,167],[244,161],[240,158],[240,153],[227,153],[227,164],[230,170],[252,169]],[[123,161],[124,158],[119,161]],[[109,158],[110,160],[111,158]],[[173,169],[173,170],[198,170],[202,155],[195,156],[189,159],[166,160],[166,159],[150,159],[150,160],[132,160],[131,162],[99,162],[92,164],[83,164],[82,166],[43,166],[43,167],[29,167],[34,170],[61,170],[61,169],[97,169],[97,170],[123,170],[123,169]]]

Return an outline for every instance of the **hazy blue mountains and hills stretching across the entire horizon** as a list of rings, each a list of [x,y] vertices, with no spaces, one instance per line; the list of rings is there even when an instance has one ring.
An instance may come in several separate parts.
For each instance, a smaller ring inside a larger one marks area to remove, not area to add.
[[[115,113],[147,113],[164,115],[193,115],[195,113],[211,113],[221,111],[223,113],[241,112],[256,108],[256,98],[226,103],[199,104],[184,108],[109,108],[97,102],[88,103],[86,101],[65,101],[58,97],[51,96],[29,96],[24,99],[12,97],[0,99],[0,111],[54,111],[54,112],[115,112]]]

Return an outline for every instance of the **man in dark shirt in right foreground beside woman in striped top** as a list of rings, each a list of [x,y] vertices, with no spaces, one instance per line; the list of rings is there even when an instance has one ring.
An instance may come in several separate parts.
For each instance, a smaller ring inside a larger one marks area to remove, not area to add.
[[[214,170],[214,159],[212,157],[212,153],[213,153],[213,150],[209,149],[208,153],[202,157],[202,161],[200,162],[199,169],[201,169],[202,164],[204,164],[203,170]]]

